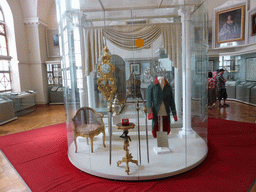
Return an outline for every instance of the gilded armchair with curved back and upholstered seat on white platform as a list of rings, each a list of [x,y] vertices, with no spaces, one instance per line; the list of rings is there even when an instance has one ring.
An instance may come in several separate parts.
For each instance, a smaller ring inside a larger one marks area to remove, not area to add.
[[[93,138],[100,133],[103,133],[103,146],[105,145],[105,125],[103,122],[103,115],[97,113],[90,107],[82,107],[78,109],[76,115],[72,119],[73,121],[73,132],[77,153],[77,142],[78,136],[86,137],[87,145],[89,144],[88,137],[91,141],[91,152],[93,153]]]

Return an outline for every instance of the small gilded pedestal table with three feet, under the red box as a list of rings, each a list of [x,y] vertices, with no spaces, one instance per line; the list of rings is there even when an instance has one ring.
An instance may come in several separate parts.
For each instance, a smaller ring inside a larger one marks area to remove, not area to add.
[[[138,161],[133,160],[133,156],[129,152],[129,149],[128,149],[128,147],[130,146],[129,145],[130,136],[128,136],[129,129],[134,129],[135,124],[134,123],[129,123],[129,125],[123,126],[122,123],[118,123],[116,126],[117,126],[117,129],[123,130],[123,135],[124,135],[123,136],[123,138],[124,138],[123,149],[125,151],[125,157],[123,157],[122,160],[117,161],[117,166],[119,166],[123,162],[126,163],[125,172],[127,173],[127,175],[129,175],[129,172],[130,172],[129,162],[135,163],[136,165],[138,165]]]

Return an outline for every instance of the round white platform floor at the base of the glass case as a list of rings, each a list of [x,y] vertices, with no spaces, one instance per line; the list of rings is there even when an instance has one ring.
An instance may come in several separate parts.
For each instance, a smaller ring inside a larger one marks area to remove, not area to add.
[[[132,134],[132,133],[131,133]],[[186,172],[198,166],[207,156],[206,142],[196,135],[192,138],[182,138],[179,134],[168,136],[169,153],[157,154],[153,149],[157,146],[157,139],[149,138],[149,162],[145,135],[141,135],[141,163],[136,135],[131,136],[129,152],[139,164],[129,163],[130,173],[125,172],[125,163],[117,166],[117,162],[125,156],[123,139],[120,132],[113,133],[111,165],[109,158],[109,141],[103,147],[102,138],[94,140],[94,152],[91,153],[90,145],[85,138],[78,138],[78,151],[75,153],[74,142],[69,146],[68,157],[78,169],[103,178],[115,180],[152,180],[165,178]]]

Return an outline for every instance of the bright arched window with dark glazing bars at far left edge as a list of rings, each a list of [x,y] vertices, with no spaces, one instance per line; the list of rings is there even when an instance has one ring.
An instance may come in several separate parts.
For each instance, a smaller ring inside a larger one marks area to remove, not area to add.
[[[6,25],[0,8],[0,92],[11,90],[10,57],[8,55]]]

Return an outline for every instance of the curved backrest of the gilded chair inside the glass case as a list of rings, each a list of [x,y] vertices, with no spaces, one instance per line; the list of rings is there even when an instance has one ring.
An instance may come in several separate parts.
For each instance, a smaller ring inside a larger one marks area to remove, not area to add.
[[[94,109],[90,107],[82,107],[78,109],[76,115],[72,118],[75,127],[83,124],[98,124],[104,125],[103,116],[97,113]]]

